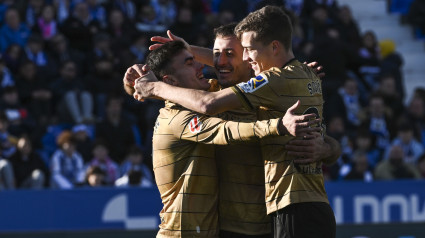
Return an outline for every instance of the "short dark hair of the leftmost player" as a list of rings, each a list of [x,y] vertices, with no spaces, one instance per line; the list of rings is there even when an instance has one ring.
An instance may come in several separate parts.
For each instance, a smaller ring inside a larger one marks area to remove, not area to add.
[[[186,47],[181,41],[170,41],[161,47],[151,51],[146,59],[146,64],[158,78],[173,72],[171,69],[172,59]]]

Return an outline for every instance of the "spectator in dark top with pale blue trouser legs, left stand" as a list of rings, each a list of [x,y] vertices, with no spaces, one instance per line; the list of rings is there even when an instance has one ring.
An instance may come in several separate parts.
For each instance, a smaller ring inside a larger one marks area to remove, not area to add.
[[[66,61],[60,68],[60,78],[50,84],[53,100],[57,102],[57,114],[61,122],[73,124],[91,123],[93,98],[77,74],[73,61]],[[71,119],[71,120],[69,120]]]

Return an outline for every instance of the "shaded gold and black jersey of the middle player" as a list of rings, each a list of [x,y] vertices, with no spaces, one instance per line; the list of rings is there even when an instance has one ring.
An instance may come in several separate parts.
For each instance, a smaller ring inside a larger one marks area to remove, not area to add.
[[[239,109],[218,115],[224,120],[255,121],[253,112]],[[264,203],[264,162],[257,143],[216,146],[219,177],[220,230],[246,235],[271,233]]]

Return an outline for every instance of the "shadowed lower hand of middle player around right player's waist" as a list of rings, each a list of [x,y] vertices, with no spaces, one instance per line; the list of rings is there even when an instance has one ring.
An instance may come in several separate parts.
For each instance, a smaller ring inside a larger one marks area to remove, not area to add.
[[[325,159],[330,146],[324,141],[320,133],[314,132],[309,139],[295,138],[285,145],[288,155],[295,156],[294,163],[308,164]]]

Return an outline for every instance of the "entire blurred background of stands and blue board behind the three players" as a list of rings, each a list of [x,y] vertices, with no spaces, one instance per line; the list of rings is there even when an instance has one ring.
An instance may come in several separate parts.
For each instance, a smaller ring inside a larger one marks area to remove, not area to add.
[[[154,237],[163,102],[122,76],[151,36],[212,48],[215,27],[265,5],[324,66],[337,237],[425,237],[425,0],[0,0],[0,237]]]

